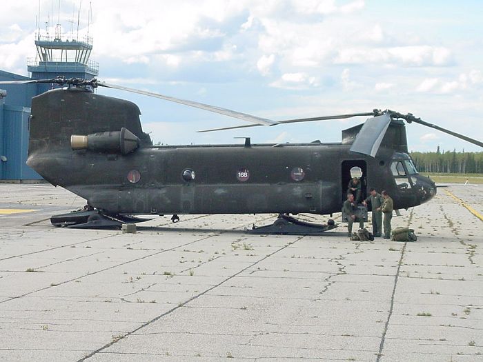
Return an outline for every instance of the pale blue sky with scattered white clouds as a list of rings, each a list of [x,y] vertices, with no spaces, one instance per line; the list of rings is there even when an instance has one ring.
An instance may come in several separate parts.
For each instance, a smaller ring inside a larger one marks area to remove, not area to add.
[[[108,83],[275,121],[375,108],[411,112],[482,141],[482,18],[478,0],[16,0],[1,6],[0,69],[28,75],[40,19],[42,34],[57,22],[68,37],[88,32],[90,59]],[[137,103],[144,131],[169,145],[243,143],[234,137],[337,142],[365,120],[200,134],[244,121],[97,92]],[[410,151],[483,151],[422,125],[406,128]]]

